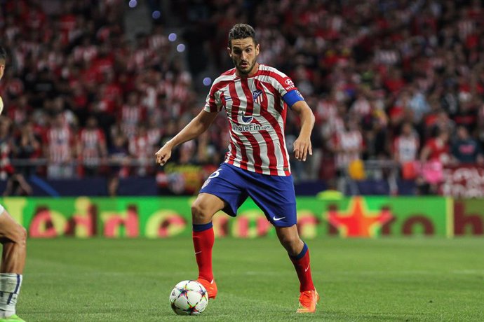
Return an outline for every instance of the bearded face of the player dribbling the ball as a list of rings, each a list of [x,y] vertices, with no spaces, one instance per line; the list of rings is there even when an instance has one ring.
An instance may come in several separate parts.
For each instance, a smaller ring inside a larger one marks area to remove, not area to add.
[[[255,72],[259,45],[255,45],[253,38],[232,39],[231,48],[227,49],[239,75],[250,76]]]

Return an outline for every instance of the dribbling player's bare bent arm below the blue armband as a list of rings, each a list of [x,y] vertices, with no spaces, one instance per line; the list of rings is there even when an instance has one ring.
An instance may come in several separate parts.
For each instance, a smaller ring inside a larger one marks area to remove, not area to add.
[[[294,153],[297,160],[306,161],[307,155],[313,155],[311,146],[311,132],[314,127],[314,114],[304,100],[295,102],[291,109],[301,120],[299,137],[294,141]]]

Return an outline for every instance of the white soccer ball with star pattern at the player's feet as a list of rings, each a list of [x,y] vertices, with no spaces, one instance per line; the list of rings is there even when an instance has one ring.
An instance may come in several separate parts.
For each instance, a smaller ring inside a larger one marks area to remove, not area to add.
[[[170,293],[170,304],[179,315],[201,314],[208,304],[208,293],[198,281],[181,281]]]

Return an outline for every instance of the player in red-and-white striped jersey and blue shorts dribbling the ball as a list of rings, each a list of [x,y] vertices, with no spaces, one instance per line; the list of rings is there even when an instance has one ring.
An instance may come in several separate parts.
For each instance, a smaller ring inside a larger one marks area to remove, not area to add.
[[[309,249],[297,233],[296,200],[284,127],[290,109],[301,120],[293,152],[297,160],[306,161],[312,155],[314,115],[293,80],[277,69],[257,63],[260,45],[253,27],[234,25],[229,31],[227,50],[235,68],[214,81],[203,111],[156,152],[156,162],[165,165],[175,146],[199,137],[215,120],[217,112],[225,109],[229,151],[191,206],[198,281],[208,290],[208,297],[215,298],[212,217],[220,210],[236,216],[238,207],[251,197],[276,228],[279,241],[294,264],[300,280],[297,312],[312,313],[316,311],[319,295],[311,277]]]

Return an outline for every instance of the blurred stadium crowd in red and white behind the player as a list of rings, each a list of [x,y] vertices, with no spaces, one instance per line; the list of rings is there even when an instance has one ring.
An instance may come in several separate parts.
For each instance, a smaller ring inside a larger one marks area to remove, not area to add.
[[[171,1],[186,60],[163,19],[129,41],[123,1],[62,1],[51,15],[40,3],[1,2],[0,179],[154,175],[154,152],[203,106],[209,87],[194,80],[233,66],[237,22],[255,27],[259,62],[293,78],[314,110],[314,155],[293,163],[296,180],[331,179],[355,160],[394,161],[408,179],[418,160],[484,162],[482,1]],[[298,130],[288,113],[288,147]],[[227,142],[219,117],[173,161],[217,166]]]

